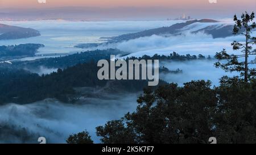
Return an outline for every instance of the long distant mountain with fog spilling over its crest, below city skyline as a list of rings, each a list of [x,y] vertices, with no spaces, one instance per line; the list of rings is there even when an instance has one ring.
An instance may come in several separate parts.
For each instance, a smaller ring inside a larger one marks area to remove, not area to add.
[[[98,45],[104,45],[109,43],[118,43],[122,41],[128,41],[131,39],[137,39],[139,37],[147,37],[152,35],[170,36],[170,35],[181,35],[184,32],[204,32],[208,35],[212,35],[213,38],[228,37],[233,35],[233,26],[221,23],[213,19],[201,19],[201,20],[189,20],[183,23],[176,23],[169,27],[154,28],[151,30],[145,30],[136,33],[128,33],[120,36],[113,37],[101,37],[101,39],[107,40],[106,43],[100,44],[79,44],[76,45],[78,48],[89,48],[97,47]]]

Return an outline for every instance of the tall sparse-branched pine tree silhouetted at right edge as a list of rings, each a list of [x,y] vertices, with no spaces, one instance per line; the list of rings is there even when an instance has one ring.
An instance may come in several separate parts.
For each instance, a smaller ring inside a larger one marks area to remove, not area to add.
[[[236,24],[234,25],[233,33],[234,35],[245,36],[245,41],[242,43],[233,41],[231,45],[234,51],[241,51],[242,55],[229,55],[226,49],[223,49],[223,51],[217,52],[215,56],[218,59],[218,62],[215,63],[217,68],[222,68],[226,72],[240,72],[245,82],[255,78],[256,75],[256,69],[250,68],[250,65],[256,64],[256,58],[252,61],[248,60],[249,56],[256,55],[256,49],[251,46],[256,44],[256,37],[251,37],[251,32],[256,28],[256,24],[253,22],[254,17],[254,12],[251,14],[243,13],[241,19],[234,15]],[[223,63],[224,60],[227,62]]]

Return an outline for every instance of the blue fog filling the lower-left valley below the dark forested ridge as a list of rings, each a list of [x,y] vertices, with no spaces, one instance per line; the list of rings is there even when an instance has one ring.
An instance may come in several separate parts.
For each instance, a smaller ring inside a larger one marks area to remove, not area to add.
[[[109,94],[107,99],[87,98],[82,104],[46,99],[26,105],[0,106],[0,143],[38,143],[39,136],[46,137],[48,143],[65,143],[69,135],[85,129],[94,143],[100,143],[95,128],[133,112],[137,96]]]

